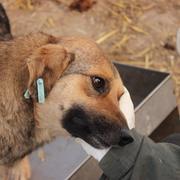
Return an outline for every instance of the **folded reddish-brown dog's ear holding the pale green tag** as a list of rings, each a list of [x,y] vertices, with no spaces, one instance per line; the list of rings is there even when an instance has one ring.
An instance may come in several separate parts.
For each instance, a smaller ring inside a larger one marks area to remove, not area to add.
[[[36,96],[36,80],[44,80],[46,96],[55,82],[74,60],[74,54],[68,53],[61,45],[47,44],[36,49],[27,60],[29,70],[28,90],[31,97]]]

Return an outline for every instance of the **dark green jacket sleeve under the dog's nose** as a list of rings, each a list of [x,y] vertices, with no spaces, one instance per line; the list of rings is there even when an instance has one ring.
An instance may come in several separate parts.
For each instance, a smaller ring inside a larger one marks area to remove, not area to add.
[[[180,147],[130,132],[134,142],[112,147],[100,161],[100,180],[180,180]]]

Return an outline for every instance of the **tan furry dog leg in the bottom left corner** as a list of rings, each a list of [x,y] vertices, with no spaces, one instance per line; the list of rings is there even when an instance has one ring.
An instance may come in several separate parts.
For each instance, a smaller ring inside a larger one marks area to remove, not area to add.
[[[12,167],[0,167],[0,179],[2,180],[29,180],[30,178],[31,169],[27,156]]]

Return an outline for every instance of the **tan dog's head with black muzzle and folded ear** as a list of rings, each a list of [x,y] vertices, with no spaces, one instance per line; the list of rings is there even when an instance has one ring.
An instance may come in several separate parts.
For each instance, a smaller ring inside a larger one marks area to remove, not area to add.
[[[119,110],[123,83],[114,65],[89,39],[60,38],[28,60],[29,90],[40,128],[60,130],[97,148],[132,141]],[[43,78],[46,101],[36,102],[35,80]]]

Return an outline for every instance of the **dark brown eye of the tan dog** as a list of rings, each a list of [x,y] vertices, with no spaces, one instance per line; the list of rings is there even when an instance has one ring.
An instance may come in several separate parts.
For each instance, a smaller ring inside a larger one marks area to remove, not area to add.
[[[92,76],[91,77],[92,85],[94,89],[99,93],[104,93],[106,90],[106,82],[103,78]]]

